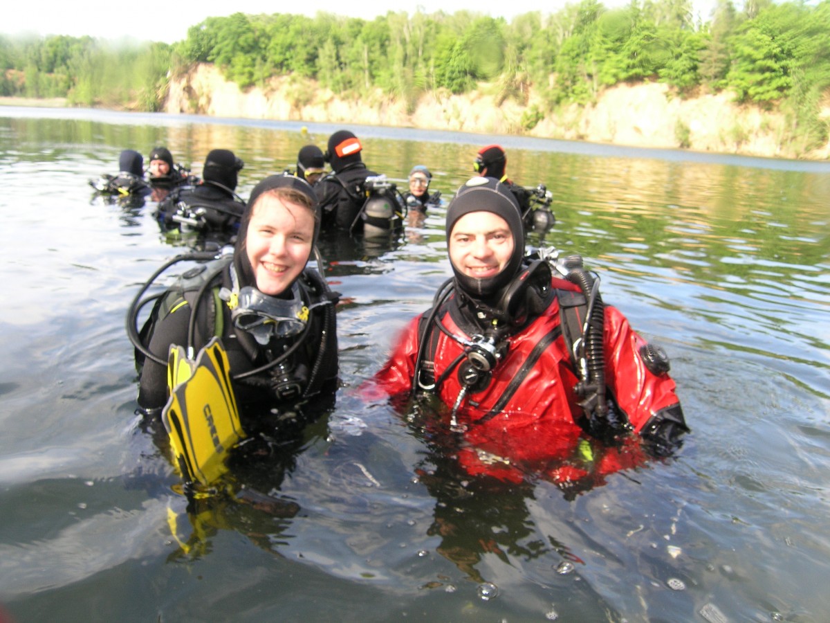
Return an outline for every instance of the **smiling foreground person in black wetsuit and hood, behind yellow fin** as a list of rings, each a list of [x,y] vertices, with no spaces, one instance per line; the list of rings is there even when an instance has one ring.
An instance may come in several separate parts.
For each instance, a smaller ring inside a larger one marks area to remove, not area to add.
[[[176,373],[171,346],[186,347],[192,359],[194,351],[212,348],[213,338],[227,354],[231,386],[222,388],[223,395],[242,407],[242,424],[249,405],[293,405],[333,394],[339,295],[331,292],[321,271],[306,267],[316,253],[319,231],[320,211],[310,184],[288,174],[272,175],[251,191],[232,254],[179,256],[155,272],[135,297],[127,321],[136,347],[140,410],[153,415],[170,406],[175,383],[168,379],[168,366],[171,375]],[[169,266],[194,259],[202,262],[173,287],[142,300]],[[139,312],[149,302],[154,307],[139,333]],[[220,356],[213,363],[225,365],[222,361]],[[258,417],[251,413],[249,420]]]

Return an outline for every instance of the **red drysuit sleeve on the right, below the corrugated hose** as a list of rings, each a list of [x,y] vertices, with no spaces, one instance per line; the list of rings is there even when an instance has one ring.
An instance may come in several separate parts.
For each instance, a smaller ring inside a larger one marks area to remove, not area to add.
[[[657,411],[680,402],[671,377],[643,363],[640,348],[646,344],[616,307],[605,307],[605,384],[638,433]]]

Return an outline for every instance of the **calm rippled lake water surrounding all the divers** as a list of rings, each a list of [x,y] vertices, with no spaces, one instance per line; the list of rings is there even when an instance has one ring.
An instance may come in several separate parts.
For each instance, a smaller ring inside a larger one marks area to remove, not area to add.
[[[186,510],[134,415],[125,311],[186,247],[94,199],[168,145],[239,192],[340,125],[0,109],[0,611],[12,621],[828,621],[830,164],[352,126],[371,168],[452,196],[481,145],[554,194],[531,243],[582,253],[671,356],[692,434],[581,492],[471,482],[355,389],[450,274],[442,210],[327,248],[343,387],[237,491]],[[336,255],[336,257],[334,257]],[[0,614],[0,620],[3,619]]]

